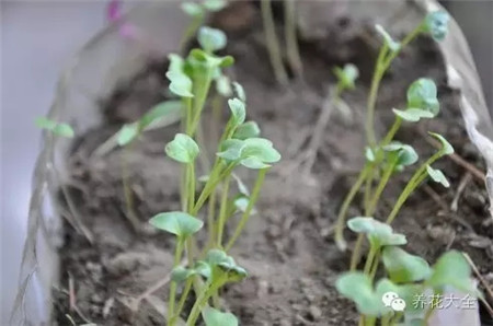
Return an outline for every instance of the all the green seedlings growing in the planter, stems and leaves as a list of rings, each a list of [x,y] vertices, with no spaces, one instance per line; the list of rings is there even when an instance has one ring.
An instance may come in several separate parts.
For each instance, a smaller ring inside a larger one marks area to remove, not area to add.
[[[169,91],[175,98],[157,105],[137,121],[124,125],[112,138],[119,147],[125,148],[125,151],[130,151],[131,144],[144,131],[168,125],[170,121],[181,121],[181,132],[164,147],[165,154],[181,164],[181,210],[161,212],[149,221],[154,228],[175,236],[167,310],[169,326],[193,326],[198,323],[200,316],[207,326],[239,324],[232,313],[221,310],[219,299],[221,288],[231,282],[239,282],[248,276],[246,270],[236,263],[229,252],[254,212],[266,173],[272,164],[280,160],[280,154],[273,143],[260,137],[257,124],[245,120],[246,96],[242,86],[231,82],[225,74],[225,68],[233,65],[232,57],[217,55],[217,51],[226,47],[225,33],[203,26],[207,12],[221,10],[226,5],[225,0],[182,4],[192,22],[183,35],[181,49],[183,50],[195,35],[199,48],[192,49],[185,57],[177,54],[169,55],[170,65],[165,75],[170,81]],[[274,32],[271,1],[262,0],[261,10],[273,71],[277,81],[285,84],[287,77],[280,62],[279,42]],[[285,43],[288,47],[288,59],[294,70],[301,72],[294,15],[294,1],[286,0]],[[395,311],[382,302],[388,292],[398,293],[399,298],[406,302],[411,302],[412,296],[420,293],[443,293],[448,286],[471,295],[480,295],[471,283],[469,265],[460,253],[447,252],[431,267],[423,258],[402,249],[401,246],[406,244],[406,237],[391,228],[406,199],[425,179],[429,177],[445,187],[449,186],[445,175],[433,167],[435,161],[454,152],[444,137],[429,132],[431,137],[442,143],[442,148],[415,170],[389,216],[383,221],[375,218],[381,194],[391,177],[404,168],[411,168],[419,161],[419,155],[411,145],[394,140],[400,126],[403,123],[431,119],[439,113],[435,83],[421,78],[408,89],[406,107],[393,108],[395,114],[393,125],[381,140],[377,140],[374,115],[380,81],[392,60],[417,35],[426,33],[436,40],[443,39],[447,33],[447,21],[448,15],[445,12],[433,12],[401,42],[392,39],[383,27],[376,26],[383,44],[377,58],[368,95],[366,163],[342,203],[335,231],[335,242],[342,251],[346,251],[348,246],[344,240],[345,225],[358,233],[352,248],[351,270],[337,279],[335,287],[342,295],[356,304],[360,313],[360,326],[377,325],[377,322],[382,326],[402,322],[405,325],[426,325],[433,313],[433,305],[426,310],[413,308],[408,304],[405,310]],[[335,68],[334,73],[339,80],[332,95],[335,105],[343,91],[355,88],[358,70],[348,63],[344,68]],[[217,137],[214,162],[202,164],[202,168],[197,168],[200,155],[205,158],[205,162],[208,160],[200,136],[203,110],[210,100],[213,109],[218,113],[214,116],[217,117],[216,124],[219,125],[223,98],[228,98],[230,116],[226,126],[221,128],[220,137]],[[163,124],[163,120],[168,123]],[[74,135],[67,124],[47,118],[39,118],[37,126],[61,137]],[[123,166],[123,187],[126,189],[128,212],[126,216],[138,231],[139,223],[133,212],[125,164]],[[239,167],[257,171],[252,190],[249,190],[234,173]],[[207,173],[198,176],[197,170]],[[233,183],[236,187],[231,187]],[[232,188],[237,189],[237,193],[233,193]],[[362,189],[365,214],[352,218],[346,223],[348,208]],[[231,217],[236,214],[240,218],[236,225],[231,225],[236,220]],[[228,225],[233,230],[229,237],[225,232]],[[197,233],[203,230],[207,232],[207,240],[199,247]],[[367,255],[362,253],[365,237],[369,243]],[[359,265],[362,257],[366,257],[363,266]],[[380,263],[385,267],[383,270],[379,269]],[[362,269],[358,270],[358,267]],[[381,275],[381,278],[376,281],[378,275]],[[187,308],[186,303],[190,302],[193,302],[192,308]]]

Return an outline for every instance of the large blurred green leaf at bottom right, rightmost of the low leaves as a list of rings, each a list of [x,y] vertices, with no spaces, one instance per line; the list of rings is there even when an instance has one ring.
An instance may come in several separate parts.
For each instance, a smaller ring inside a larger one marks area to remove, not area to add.
[[[450,286],[465,293],[477,294],[471,281],[471,267],[457,251],[447,252],[438,258],[426,283],[435,289]]]

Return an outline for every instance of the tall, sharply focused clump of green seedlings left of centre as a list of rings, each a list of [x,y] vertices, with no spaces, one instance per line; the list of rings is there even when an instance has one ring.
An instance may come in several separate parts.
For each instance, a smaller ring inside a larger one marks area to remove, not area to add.
[[[231,313],[221,312],[217,300],[218,291],[229,282],[242,280],[246,272],[227,253],[254,212],[265,174],[272,164],[280,160],[280,154],[270,140],[260,137],[260,128],[254,121],[245,121],[244,90],[240,84],[228,81],[225,83],[228,84],[228,92],[222,92],[222,88],[226,90],[222,84],[221,95],[232,95],[228,100],[230,117],[219,137],[216,158],[208,173],[204,177],[196,177],[196,161],[205,154],[204,147],[197,139],[198,127],[211,83],[216,81],[216,86],[223,83],[221,69],[233,63],[231,57],[215,55],[215,51],[226,46],[226,35],[222,32],[202,27],[198,44],[202,48],[192,49],[186,58],[170,55],[167,72],[169,89],[182,103],[182,132],[164,148],[167,155],[182,165],[182,211],[160,213],[150,223],[176,235],[168,325],[175,325],[182,317],[186,299],[194,291],[196,301],[186,318],[186,325],[195,325],[202,316],[206,325],[233,326],[238,325],[238,321]],[[252,191],[234,174],[234,170],[240,166],[259,171]],[[231,196],[231,181],[236,181],[240,194]],[[198,185],[202,189],[197,193]],[[197,247],[195,233],[204,224],[200,212],[206,202],[208,209],[205,229],[208,242],[200,249]],[[240,220],[231,236],[226,237],[225,230],[236,213],[241,214]],[[186,252],[186,267],[179,265],[183,252]],[[183,287],[176,304],[179,284]],[[208,306],[210,299],[214,308]]]

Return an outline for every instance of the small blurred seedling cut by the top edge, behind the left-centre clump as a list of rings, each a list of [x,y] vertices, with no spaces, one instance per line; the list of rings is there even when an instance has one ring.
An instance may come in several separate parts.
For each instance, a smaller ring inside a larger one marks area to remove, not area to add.
[[[182,10],[192,18],[192,21],[183,34],[180,43],[180,53],[185,49],[186,43],[194,37],[198,28],[204,24],[207,13],[220,11],[227,5],[227,0],[204,0],[200,3],[192,1],[183,2]]]

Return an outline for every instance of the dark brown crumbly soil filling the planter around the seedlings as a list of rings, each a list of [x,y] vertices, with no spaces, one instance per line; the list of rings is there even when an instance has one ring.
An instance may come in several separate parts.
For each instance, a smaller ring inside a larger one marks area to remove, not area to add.
[[[216,23],[222,23],[221,27],[229,32],[226,53],[236,58],[230,73],[246,90],[248,117],[260,124],[263,136],[282,152],[283,161],[268,174],[259,213],[252,217],[232,251],[250,276],[225,290],[225,307],[248,326],[355,325],[355,310],[333,287],[337,275],[347,269],[348,254],[336,249],[332,230],[343,196],[364,163],[363,121],[376,55],[367,36],[371,36],[370,40],[375,37],[371,24],[345,20],[328,38],[302,40],[303,78],[294,78],[288,88],[282,88],[268,65],[257,9],[249,2],[239,3],[243,8],[233,11],[243,13],[244,22],[222,18]],[[328,88],[333,84],[331,69],[345,62],[355,62],[362,70],[358,88],[343,96],[352,109],[351,119],[334,112],[312,172],[302,173],[297,162],[313,132]],[[71,194],[94,243],[66,226],[60,249],[61,288],[55,291],[58,325],[70,325],[66,314],[77,322],[85,318],[107,326],[164,324],[161,311],[165,306],[165,287],[144,300],[137,311],[133,312],[131,305],[133,299],[169,275],[173,238],[152,230],[144,231],[145,234],[133,232],[125,218],[122,162],[126,154],[142,225],[158,212],[179,209],[179,166],[163,152],[177,127],[147,133],[127,153],[114,150],[103,158],[91,158],[91,153],[122,123],[137,118],[163,100],[160,94],[167,88],[165,70],[167,62],[153,62],[134,80],[123,83],[102,104],[106,120],[81,137],[73,148]],[[463,128],[457,94],[447,88],[444,71],[437,48],[427,37],[420,37],[405,49],[381,85],[378,130],[381,135],[391,123],[392,107],[402,107],[405,89],[412,81],[432,78],[439,88],[439,118],[420,123],[419,128],[405,125],[397,139],[412,144],[424,159],[434,151],[425,131],[439,132],[458,155],[482,170]],[[225,107],[225,115],[226,110]],[[207,124],[206,139],[211,142],[216,132]],[[488,276],[493,258],[493,228],[483,183],[448,158],[436,163],[436,167],[445,172],[450,188],[423,185],[409,199],[394,226],[406,234],[408,251],[431,263],[448,248],[465,251],[480,272]],[[251,183],[254,175],[243,173]],[[409,172],[391,182],[377,218],[386,217],[406,178]],[[454,201],[457,205],[451,205]],[[360,198],[354,202],[349,216],[362,214]],[[349,233],[346,236],[354,240]],[[489,277],[492,282],[491,273]],[[72,310],[69,283],[73,284],[77,306]]]

